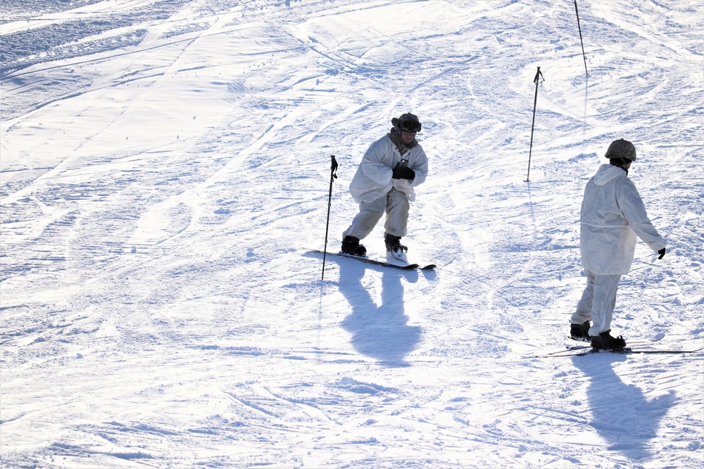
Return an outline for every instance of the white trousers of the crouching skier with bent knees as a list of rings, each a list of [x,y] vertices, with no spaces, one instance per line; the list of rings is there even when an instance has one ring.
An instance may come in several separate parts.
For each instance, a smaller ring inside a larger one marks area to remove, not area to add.
[[[406,194],[391,189],[386,197],[360,203],[359,213],[352,220],[350,227],[342,233],[342,237],[366,238],[377,226],[384,212],[386,212],[386,221],[384,221],[386,233],[394,236],[406,236],[408,210],[410,210],[410,203],[408,203]]]

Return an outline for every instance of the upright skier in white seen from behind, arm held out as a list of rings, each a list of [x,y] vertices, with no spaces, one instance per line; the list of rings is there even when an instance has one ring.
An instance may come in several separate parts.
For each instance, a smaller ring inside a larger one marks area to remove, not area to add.
[[[631,268],[636,235],[658,252],[658,259],[665,256],[666,243],[650,223],[643,200],[627,177],[636,160],[633,143],[615,140],[604,156],[609,164],[601,165],[584,189],[579,250],[586,288],[572,314],[570,335],[591,341],[596,350],[620,350],[626,341],[610,335],[611,319],[618,283]]]

